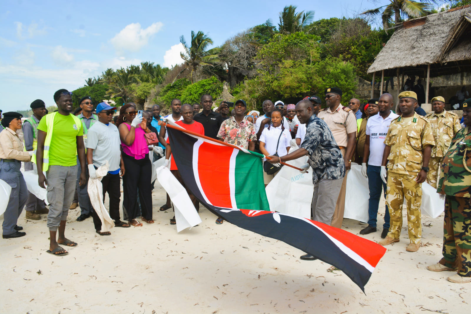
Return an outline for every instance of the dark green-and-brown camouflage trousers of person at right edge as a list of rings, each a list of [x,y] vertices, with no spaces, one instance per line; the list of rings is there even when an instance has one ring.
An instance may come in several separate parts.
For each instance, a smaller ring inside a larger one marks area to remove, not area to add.
[[[458,268],[458,274],[471,277],[470,199],[447,195],[443,221],[443,258],[441,265]]]

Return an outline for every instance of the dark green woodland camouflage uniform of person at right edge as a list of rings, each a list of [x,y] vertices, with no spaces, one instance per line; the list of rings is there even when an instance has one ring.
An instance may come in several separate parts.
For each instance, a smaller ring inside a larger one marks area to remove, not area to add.
[[[443,158],[437,192],[446,194],[443,258],[439,263],[458,268],[460,276],[471,277],[471,127],[453,137]]]

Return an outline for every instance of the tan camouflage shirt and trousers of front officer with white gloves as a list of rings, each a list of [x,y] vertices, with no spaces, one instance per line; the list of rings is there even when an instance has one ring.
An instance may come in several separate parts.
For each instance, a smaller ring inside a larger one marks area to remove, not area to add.
[[[399,116],[391,121],[384,144],[391,146],[386,190],[390,213],[388,236],[399,239],[402,205],[406,198],[409,239],[411,243],[419,243],[422,236],[422,184],[417,183],[415,178],[422,169],[422,150],[428,145],[435,145],[430,122],[417,113],[411,118]]]

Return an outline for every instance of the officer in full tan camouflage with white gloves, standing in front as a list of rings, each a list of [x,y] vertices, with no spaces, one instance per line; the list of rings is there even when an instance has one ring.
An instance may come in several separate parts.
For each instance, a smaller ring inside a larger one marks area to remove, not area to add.
[[[406,250],[409,252],[415,252],[420,247],[422,182],[427,177],[430,153],[435,145],[430,121],[414,112],[416,103],[417,95],[414,92],[404,91],[399,94],[402,115],[391,121],[384,141],[386,147],[381,166],[382,180],[388,185],[386,203],[390,213],[390,227],[388,235],[379,244],[399,242],[405,198],[410,239]]]

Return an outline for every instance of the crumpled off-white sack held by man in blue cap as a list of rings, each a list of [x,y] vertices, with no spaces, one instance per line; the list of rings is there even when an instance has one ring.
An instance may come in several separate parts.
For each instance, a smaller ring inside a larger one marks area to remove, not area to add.
[[[87,186],[91,205],[101,220],[101,232],[108,232],[114,227],[113,219],[111,219],[105,204],[103,204],[103,185],[101,184],[101,179],[106,176],[109,167],[108,161],[103,166],[98,167],[96,170],[97,178],[89,178]]]

